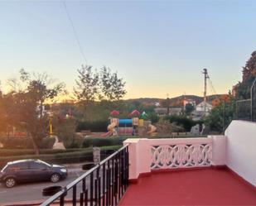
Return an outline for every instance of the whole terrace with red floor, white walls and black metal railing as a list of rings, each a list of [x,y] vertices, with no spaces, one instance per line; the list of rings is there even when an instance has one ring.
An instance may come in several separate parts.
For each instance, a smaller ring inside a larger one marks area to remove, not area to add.
[[[225,136],[128,139],[41,205],[70,205],[69,190],[72,205],[256,205],[255,134],[255,122],[233,121]]]

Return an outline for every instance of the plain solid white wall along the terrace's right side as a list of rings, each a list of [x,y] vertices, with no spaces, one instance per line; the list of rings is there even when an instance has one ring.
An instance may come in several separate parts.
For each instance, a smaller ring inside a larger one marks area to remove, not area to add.
[[[256,122],[235,120],[225,136],[226,165],[256,186]]]

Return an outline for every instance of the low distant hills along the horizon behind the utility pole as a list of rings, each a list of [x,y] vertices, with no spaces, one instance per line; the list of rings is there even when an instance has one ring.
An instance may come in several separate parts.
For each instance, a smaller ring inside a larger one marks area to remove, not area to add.
[[[212,102],[213,99],[215,98],[220,98],[221,95],[223,94],[215,94],[215,95],[210,95],[207,96],[207,101],[208,102]],[[170,98],[170,105],[172,107],[177,107],[177,106],[182,106],[183,100],[184,99],[193,99],[196,101],[196,104],[202,102],[204,100],[203,97],[200,96],[196,96],[196,95],[181,95],[175,98]],[[164,101],[166,98],[129,98],[124,100],[127,103],[132,103],[132,102],[139,102],[139,103],[143,103],[143,104],[147,104],[147,105],[154,105],[155,103],[161,103],[162,101]]]

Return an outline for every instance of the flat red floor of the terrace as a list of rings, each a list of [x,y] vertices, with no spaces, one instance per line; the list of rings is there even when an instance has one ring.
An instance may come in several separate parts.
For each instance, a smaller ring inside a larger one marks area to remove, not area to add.
[[[153,172],[130,184],[118,205],[256,205],[256,189],[225,169]]]

